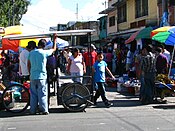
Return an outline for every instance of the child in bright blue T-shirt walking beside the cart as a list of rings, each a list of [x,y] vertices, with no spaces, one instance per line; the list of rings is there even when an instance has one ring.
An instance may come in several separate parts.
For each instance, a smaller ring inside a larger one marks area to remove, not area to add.
[[[104,56],[102,52],[97,53],[97,61],[93,65],[94,81],[96,82],[98,88],[94,96],[94,104],[96,104],[97,99],[101,96],[106,107],[110,107],[111,103],[108,101],[105,95],[105,71],[113,78],[113,74],[108,69],[106,62],[103,60]]]

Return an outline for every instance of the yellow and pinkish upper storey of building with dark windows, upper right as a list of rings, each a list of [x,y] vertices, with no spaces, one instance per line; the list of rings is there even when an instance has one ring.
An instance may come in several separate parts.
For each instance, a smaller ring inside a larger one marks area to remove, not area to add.
[[[168,11],[169,23],[173,25],[174,4],[169,4]],[[160,25],[162,0],[108,0],[108,8],[99,13],[107,15],[108,38],[127,39],[146,26]]]

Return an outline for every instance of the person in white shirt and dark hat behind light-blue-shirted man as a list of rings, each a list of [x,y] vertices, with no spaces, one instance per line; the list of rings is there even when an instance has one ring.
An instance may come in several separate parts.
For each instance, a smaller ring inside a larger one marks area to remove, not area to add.
[[[29,72],[27,69],[28,56],[29,56],[29,52],[35,48],[36,48],[36,42],[29,41],[28,45],[26,46],[26,49],[24,49],[19,54],[19,73],[22,76],[22,83],[23,83],[23,80],[25,81],[29,80]]]

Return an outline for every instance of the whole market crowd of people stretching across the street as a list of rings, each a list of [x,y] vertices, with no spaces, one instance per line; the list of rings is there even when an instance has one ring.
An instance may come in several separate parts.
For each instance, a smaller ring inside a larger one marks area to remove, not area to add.
[[[73,82],[88,83],[88,78],[78,76],[92,75],[95,82],[96,94],[94,104],[101,96],[105,106],[111,106],[105,95],[106,77],[115,80],[127,74],[128,78],[135,78],[141,82],[140,101],[142,104],[155,102],[155,79],[158,74],[168,74],[171,63],[170,52],[161,44],[153,46],[146,43],[142,48],[136,44],[130,47],[118,44],[97,48],[91,44],[87,48],[69,48],[45,50],[46,40],[41,39],[36,47],[30,41],[26,49],[18,53],[1,52],[2,81],[7,87],[10,81],[23,83],[30,80],[31,113],[36,113],[39,103],[40,112],[48,114],[48,88],[46,83],[52,81],[55,69],[71,75]],[[174,65],[171,74],[174,76]],[[114,74],[114,75],[113,75]],[[77,76],[77,77],[76,77]],[[114,77],[115,76],[115,77]],[[38,97],[39,96],[39,97]]]

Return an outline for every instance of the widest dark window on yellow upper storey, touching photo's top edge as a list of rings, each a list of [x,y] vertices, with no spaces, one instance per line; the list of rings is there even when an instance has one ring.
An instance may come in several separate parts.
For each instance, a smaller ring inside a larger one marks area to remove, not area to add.
[[[136,18],[148,15],[148,0],[135,0],[135,8]]]

